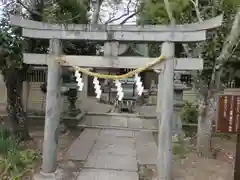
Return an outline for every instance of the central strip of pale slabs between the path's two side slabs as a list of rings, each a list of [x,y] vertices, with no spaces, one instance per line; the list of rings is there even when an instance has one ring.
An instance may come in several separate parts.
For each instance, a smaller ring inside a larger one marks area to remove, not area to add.
[[[116,136],[123,132],[112,130],[115,135],[108,135],[108,130],[102,130],[84,167],[137,171],[135,138]]]

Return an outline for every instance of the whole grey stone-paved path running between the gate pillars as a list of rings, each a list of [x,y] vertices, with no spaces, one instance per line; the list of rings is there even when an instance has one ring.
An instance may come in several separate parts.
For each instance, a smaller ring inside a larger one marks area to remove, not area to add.
[[[83,161],[77,180],[138,180],[138,165],[155,164],[151,132],[86,128],[67,152]]]

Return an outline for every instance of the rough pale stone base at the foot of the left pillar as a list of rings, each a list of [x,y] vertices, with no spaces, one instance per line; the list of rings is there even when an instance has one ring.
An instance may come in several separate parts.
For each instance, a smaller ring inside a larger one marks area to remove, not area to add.
[[[33,180],[75,180],[79,172],[66,173],[63,169],[57,169],[54,173],[40,172],[33,176]]]

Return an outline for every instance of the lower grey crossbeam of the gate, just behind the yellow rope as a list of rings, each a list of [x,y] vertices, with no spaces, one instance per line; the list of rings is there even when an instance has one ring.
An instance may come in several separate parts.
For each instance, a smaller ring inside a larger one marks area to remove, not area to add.
[[[24,53],[24,63],[34,65],[45,65],[51,60],[52,56],[47,54],[32,54]],[[62,59],[66,59],[71,65],[81,67],[93,67],[93,68],[140,68],[146,64],[151,63],[156,58],[148,57],[117,57],[109,58],[104,56],[73,56],[64,55],[60,56]],[[64,64],[63,64],[64,65]],[[65,66],[69,66],[65,64]],[[158,64],[154,69],[162,69],[163,64]],[[175,70],[202,70],[203,60],[198,58],[176,58]]]

